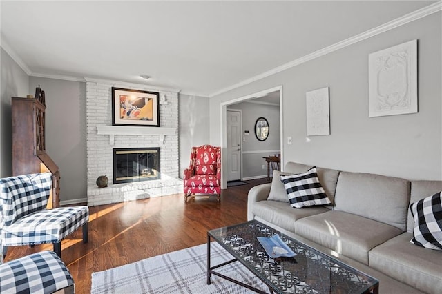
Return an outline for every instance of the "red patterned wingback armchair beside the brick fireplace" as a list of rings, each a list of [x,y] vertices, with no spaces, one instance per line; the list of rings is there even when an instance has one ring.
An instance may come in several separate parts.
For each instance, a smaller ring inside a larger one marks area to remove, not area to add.
[[[221,192],[221,148],[211,145],[192,147],[191,163],[184,170],[184,201],[195,194]]]

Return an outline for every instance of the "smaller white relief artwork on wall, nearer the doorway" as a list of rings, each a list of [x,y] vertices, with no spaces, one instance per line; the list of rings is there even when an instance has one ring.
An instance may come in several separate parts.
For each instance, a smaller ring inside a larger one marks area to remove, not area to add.
[[[305,93],[307,136],[330,135],[329,88]]]

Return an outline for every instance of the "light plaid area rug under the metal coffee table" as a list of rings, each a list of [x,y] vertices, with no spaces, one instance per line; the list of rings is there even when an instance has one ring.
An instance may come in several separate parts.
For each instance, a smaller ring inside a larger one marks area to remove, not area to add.
[[[126,264],[92,274],[90,293],[254,293],[247,288],[212,275],[206,284],[207,245],[202,244]],[[211,244],[211,265],[233,257],[220,245]],[[267,289],[240,262],[218,268],[223,275],[246,284]]]

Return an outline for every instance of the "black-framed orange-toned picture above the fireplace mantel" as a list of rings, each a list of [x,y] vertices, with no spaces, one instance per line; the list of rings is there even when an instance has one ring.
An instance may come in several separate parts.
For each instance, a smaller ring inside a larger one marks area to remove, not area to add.
[[[160,126],[160,93],[112,87],[113,126]]]

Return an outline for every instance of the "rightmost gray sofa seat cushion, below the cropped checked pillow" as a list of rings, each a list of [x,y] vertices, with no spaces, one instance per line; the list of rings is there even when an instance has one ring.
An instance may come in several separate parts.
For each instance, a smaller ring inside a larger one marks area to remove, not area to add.
[[[369,252],[369,265],[426,293],[442,289],[442,254],[415,246],[411,233],[403,233]]]

